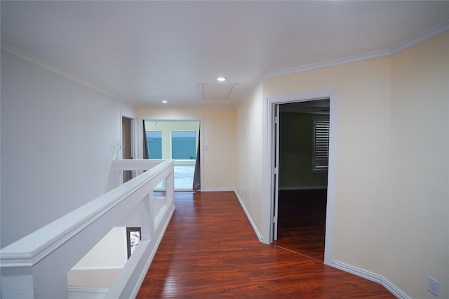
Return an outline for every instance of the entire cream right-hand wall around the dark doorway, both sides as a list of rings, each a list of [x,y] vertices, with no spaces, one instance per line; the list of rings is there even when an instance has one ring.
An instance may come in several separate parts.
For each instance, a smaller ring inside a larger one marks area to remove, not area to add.
[[[267,98],[336,90],[333,260],[374,272],[412,298],[432,298],[431,275],[448,298],[448,41],[445,33],[391,57],[264,79],[236,109],[236,190],[257,230],[265,234],[264,196],[250,186],[265,182],[249,169],[266,161]],[[250,134],[262,147],[253,156],[241,145]]]

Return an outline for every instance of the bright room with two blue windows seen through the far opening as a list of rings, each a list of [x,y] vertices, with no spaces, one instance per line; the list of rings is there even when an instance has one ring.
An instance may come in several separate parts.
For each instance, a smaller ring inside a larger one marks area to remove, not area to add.
[[[175,160],[175,191],[194,190],[195,171],[201,161],[200,121],[145,120],[149,159]],[[198,163],[197,163],[198,161]],[[155,190],[165,190],[165,181]]]

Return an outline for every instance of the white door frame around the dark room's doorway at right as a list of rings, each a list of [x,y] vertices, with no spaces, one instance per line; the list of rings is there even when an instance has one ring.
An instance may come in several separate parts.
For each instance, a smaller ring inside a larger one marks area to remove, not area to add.
[[[329,168],[328,168],[328,202],[326,207],[326,246],[324,248],[324,263],[331,265],[333,260],[333,225],[335,213],[335,176],[337,166],[337,91],[313,91],[279,97],[267,98],[267,169],[265,171],[264,200],[264,243],[271,244],[274,239],[273,224],[275,220],[274,206],[274,159],[276,140],[274,140],[274,111],[276,105],[309,100],[330,99],[330,135],[329,135]]]

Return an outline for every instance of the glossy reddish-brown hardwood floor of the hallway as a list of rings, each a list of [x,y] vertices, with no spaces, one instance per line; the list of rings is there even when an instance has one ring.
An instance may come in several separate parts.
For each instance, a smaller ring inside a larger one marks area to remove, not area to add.
[[[260,243],[234,192],[177,192],[137,298],[394,298],[383,286]]]

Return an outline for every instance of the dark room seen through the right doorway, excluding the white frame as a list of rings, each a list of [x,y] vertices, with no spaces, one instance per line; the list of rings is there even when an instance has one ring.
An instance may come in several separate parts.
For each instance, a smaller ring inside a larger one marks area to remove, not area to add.
[[[276,245],[324,261],[329,99],[279,105]]]

